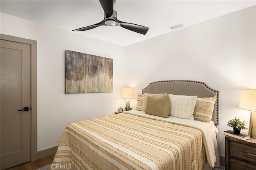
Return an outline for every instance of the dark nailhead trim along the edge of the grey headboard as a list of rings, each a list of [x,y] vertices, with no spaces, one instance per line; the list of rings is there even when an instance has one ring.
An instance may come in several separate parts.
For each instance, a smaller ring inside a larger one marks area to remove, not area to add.
[[[150,84],[148,84],[148,86],[144,89],[142,89],[142,93],[144,93],[144,90],[146,90],[151,84],[154,83],[159,83],[159,82],[192,82],[192,83],[198,83],[198,84],[203,84],[206,88],[208,88],[209,90],[216,92],[216,124],[218,125],[218,114],[219,114],[219,91],[217,90],[213,90],[212,88],[208,87],[204,82],[198,82],[198,81],[192,81],[192,80],[164,80],[164,81],[157,81],[157,82],[152,82]]]

